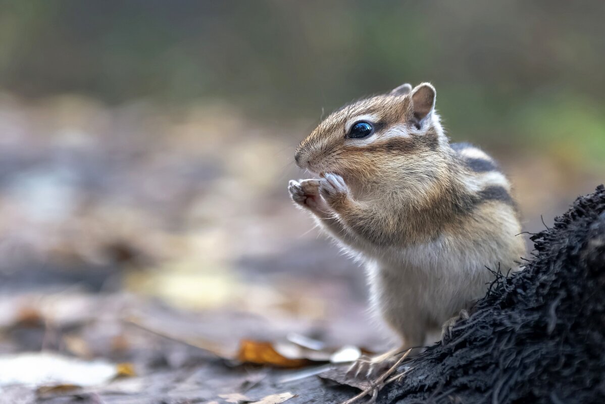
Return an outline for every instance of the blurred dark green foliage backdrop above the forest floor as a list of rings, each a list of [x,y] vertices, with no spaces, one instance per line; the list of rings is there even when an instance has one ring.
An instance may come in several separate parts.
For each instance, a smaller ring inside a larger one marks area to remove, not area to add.
[[[1,0],[0,88],[167,106],[218,98],[289,122],[431,81],[455,138],[598,165],[604,17],[601,1]]]

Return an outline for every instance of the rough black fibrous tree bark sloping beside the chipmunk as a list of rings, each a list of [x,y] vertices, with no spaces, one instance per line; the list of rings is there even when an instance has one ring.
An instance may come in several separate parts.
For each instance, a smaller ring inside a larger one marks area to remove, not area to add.
[[[531,239],[526,269],[498,276],[379,403],[605,403],[605,188]]]

